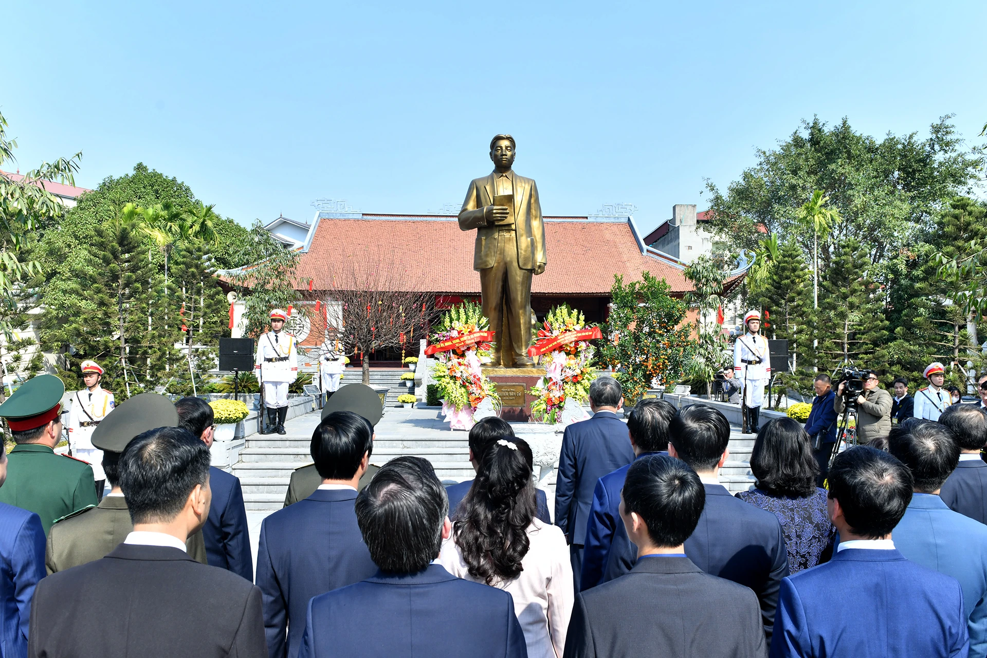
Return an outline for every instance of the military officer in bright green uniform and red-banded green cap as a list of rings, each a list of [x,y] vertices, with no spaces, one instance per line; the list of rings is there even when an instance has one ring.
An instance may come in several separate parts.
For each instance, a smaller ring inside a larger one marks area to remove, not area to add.
[[[61,399],[65,385],[54,375],[38,375],[0,404],[17,443],[7,459],[7,482],[0,502],[38,514],[47,535],[55,519],[96,505],[93,469],[82,460],[56,455],[62,438]]]

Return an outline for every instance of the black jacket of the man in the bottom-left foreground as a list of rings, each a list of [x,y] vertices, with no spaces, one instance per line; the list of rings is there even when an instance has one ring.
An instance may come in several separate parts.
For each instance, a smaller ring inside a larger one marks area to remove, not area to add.
[[[38,583],[33,658],[266,658],[261,590],[170,547],[120,544]]]

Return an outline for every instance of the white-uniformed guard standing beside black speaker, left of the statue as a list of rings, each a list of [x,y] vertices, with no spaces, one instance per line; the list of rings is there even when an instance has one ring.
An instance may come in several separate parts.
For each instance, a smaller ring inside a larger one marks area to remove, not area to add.
[[[298,352],[295,336],[284,331],[288,316],[280,309],[270,312],[270,330],[258,340],[255,367],[264,383],[264,405],[267,409],[267,429],[262,434],[286,434],[284,420],[288,415],[288,384],[298,378]]]

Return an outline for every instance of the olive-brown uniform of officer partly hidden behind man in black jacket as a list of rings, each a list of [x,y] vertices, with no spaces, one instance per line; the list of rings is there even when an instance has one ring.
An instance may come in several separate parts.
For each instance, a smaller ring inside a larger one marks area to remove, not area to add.
[[[123,496],[106,496],[90,507],[60,519],[48,533],[44,565],[48,573],[106,557],[133,531]],[[186,542],[190,557],[206,564],[205,541],[198,531]]]

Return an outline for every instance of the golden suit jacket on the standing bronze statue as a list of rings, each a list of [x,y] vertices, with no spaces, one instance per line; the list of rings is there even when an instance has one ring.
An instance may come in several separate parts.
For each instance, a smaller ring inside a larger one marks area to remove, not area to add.
[[[514,230],[517,237],[517,264],[521,269],[534,269],[539,262],[548,262],[545,255],[545,224],[542,221],[542,205],[538,201],[538,187],[531,179],[514,177]],[[477,229],[477,246],[473,253],[473,268],[477,271],[493,267],[496,259],[497,226],[487,225],[484,206],[493,205],[493,173],[470,183],[459,211],[459,228],[463,231]]]

